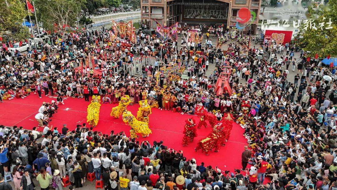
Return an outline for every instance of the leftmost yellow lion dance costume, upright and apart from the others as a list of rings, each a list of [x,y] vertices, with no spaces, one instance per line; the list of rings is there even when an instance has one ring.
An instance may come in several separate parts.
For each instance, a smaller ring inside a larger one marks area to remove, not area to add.
[[[101,107],[101,97],[100,96],[92,96],[91,103],[87,108],[87,122],[89,125],[93,127],[97,126],[99,119],[99,108]]]

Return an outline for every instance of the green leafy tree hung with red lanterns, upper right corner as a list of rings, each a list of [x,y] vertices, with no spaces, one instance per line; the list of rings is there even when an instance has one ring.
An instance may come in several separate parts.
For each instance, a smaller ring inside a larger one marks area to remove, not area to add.
[[[313,6],[308,8],[308,15],[311,24],[305,24],[300,27],[299,32],[295,36],[295,44],[304,51],[308,51],[308,56],[313,57],[317,53],[319,57],[337,56],[337,0],[329,0],[328,6],[320,5],[317,9]],[[330,22],[331,19],[331,27]],[[322,30],[320,23],[324,22]],[[311,27],[310,27],[311,26]],[[317,29],[314,29],[315,26]]]

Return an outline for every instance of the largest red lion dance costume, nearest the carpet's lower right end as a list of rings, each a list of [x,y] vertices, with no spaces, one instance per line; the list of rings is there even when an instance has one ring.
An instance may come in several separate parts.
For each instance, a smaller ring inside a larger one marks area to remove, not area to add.
[[[214,152],[218,152],[220,147],[227,142],[229,134],[232,130],[233,117],[231,114],[227,116],[221,122],[217,123],[213,127],[213,131],[207,135],[206,138],[200,139],[195,147],[195,151],[202,150],[205,155],[209,155],[209,152],[214,149]]]

